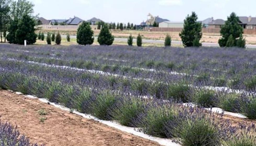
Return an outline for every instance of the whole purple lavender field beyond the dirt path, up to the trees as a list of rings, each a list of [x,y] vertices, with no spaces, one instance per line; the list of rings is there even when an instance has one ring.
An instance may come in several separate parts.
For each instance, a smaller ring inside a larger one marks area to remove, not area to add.
[[[185,146],[255,146],[256,50],[1,45],[0,57],[2,89]]]

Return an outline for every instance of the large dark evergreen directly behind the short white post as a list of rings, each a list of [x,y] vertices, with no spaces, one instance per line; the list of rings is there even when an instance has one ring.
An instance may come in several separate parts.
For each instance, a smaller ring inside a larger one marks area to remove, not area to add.
[[[27,40],[27,44],[34,44],[36,42],[35,25],[35,21],[29,15],[22,17],[18,23],[18,29],[15,35],[18,44],[23,45],[24,40]]]

